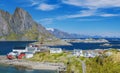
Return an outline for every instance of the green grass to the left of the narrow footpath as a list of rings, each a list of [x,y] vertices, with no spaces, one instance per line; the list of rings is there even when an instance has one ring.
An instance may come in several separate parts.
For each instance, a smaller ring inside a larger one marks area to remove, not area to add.
[[[53,62],[53,63],[64,63],[67,67],[66,73],[82,73],[81,63],[76,60],[74,56],[70,56],[70,52],[64,52],[60,54],[50,54],[49,52],[36,53],[33,58],[30,58],[31,61],[38,62]],[[78,58],[80,59],[80,58]]]

